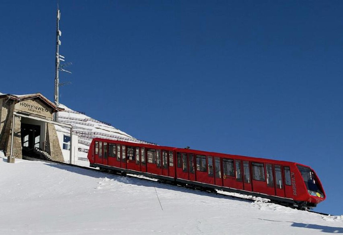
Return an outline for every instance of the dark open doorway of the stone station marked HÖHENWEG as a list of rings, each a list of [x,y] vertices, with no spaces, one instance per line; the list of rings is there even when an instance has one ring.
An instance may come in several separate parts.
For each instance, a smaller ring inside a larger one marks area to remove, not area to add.
[[[40,126],[22,123],[20,128],[23,156],[39,157],[34,149],[40,148]]]

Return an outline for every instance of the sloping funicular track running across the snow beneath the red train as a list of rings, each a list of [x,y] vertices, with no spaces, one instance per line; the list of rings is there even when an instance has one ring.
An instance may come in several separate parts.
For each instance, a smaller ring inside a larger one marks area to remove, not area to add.
[[[47,163],[57,163],[57,164],[62,164],[62,165],[68,165],[68,166],[72,166],[72,167],[78,167],[78,168],[82,168],[82,169],[86,169],[88,171],[94,171],[94,172],[103,172],[103,173],[106,173],[106,174],[112,174],[112,175],[120,175],[120,176],[126,176],[126,177],[129,177],[129,178],[135,178],[135,179],[142,179],[142,180],[147,180],[147,181],[154,181],[154,182],[157,182],[157,183],[163,183],[163,184],[168,184],[168,185],[173,185],[173,186],[178,186],[178,187],[183,187],[183,188],[187,188],[187,189],[192,189],[192,190],[196,190],[196,191],[199,191],[199,192],[207,192],[207,193],[211,193],[211,194],[214,194],[214,195],[220,195],[220,196],[225,196],[225,197],[231,197],[231,198],[235,198],[235,199],[239,199],[239,200],[243,200],[243,201],[252,201],[252,202],[255,202],[255,201],[262,201],[262,202],[270,202],[270,203],[274,203],[274,204],[279,204],[279,205],[283,205],[283,206],[286,206],[286,207],[290,207],[288,205],[284,205],[282,203],[278,203],[277,201],[273,201],[271,202],[269,199],[265,199],[263,197],[260,197],[261,199],[259,198],[256,198],[255,196],[251,196],[251,195],[243,195],[243,194],[239,194],[239,196],[235,196],[236,193],[233,193],[233,195],[228,195],[226,193],[221,193],[221,192],[218,192],[217,190],[214,191],[214,190],[206,190],[206,189],[199,189],[199,188],[194,188],[194,187],[188,187],[187,185],[180,185],[180,184],[173,184],[173,183],[168,183],[168,182],[162,182],[160,181],[159,179],[155,179],[155,178],[149,178],[149,177],[141,177],[141,176],[135,176],[133,174],[121,174],[121,173],[118,173],[118,172],[108,172],[108,171],[104,171],[104,170],[100,170],[100,169],[97,169],[97,168],[91,168],[91,167],[87,167],[87,166],[80,166],[80,165],[74,165],[74,164],[69,164],[69,163],[64,163],[64,162],[58,162],[58,161],[47,161],[47,160],[42,160],[42,159],[38,159],[38,158],[33,158],[33,157],[27,157],[27,156],[23,156],[23,159],[26,159],[26,160],[31,160],[31,161],[44,161],[44,162],[47,162]],[[251,197],[251,198],[249,198]],[[295,207],[291,207],[295,210],[302,210],[302,209],[299,209],[299,208],[295,208]],[[303,210],[304,211],[304,210]],[[311,211],[311,210],[306,210],[310,213],[316,213],[316,214],[321,214],[321,215],[330,215],[330,214],[327,214],[327,213],[322,213],[322,212],[317,212],[317,211]]]

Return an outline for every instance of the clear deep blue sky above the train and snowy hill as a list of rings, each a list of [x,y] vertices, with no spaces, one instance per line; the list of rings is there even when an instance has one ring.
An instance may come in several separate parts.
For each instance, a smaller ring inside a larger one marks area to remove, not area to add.
[[[0,92],[53,100],[56,1],[0,0]],[[343,214],[343,1],[60,0],[60,102],[161,145],[309,165]]]

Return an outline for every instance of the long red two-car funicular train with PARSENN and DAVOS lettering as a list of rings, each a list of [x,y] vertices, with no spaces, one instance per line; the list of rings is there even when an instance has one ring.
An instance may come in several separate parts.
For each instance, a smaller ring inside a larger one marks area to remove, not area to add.
[[[322,184],[303,164],[95,138],[90,166],[144,175],[187,187],[223,190],[307,209],[325,200]]]

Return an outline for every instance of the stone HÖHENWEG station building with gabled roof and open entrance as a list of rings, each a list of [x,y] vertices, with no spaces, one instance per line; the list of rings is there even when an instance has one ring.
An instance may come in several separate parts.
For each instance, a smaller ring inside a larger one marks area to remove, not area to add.
[[[8,162],[23,156],[64,162],[55,125],[70,125],[53,121],[54,113],[63,110],[40,93],[0,93],[0,150]]]

